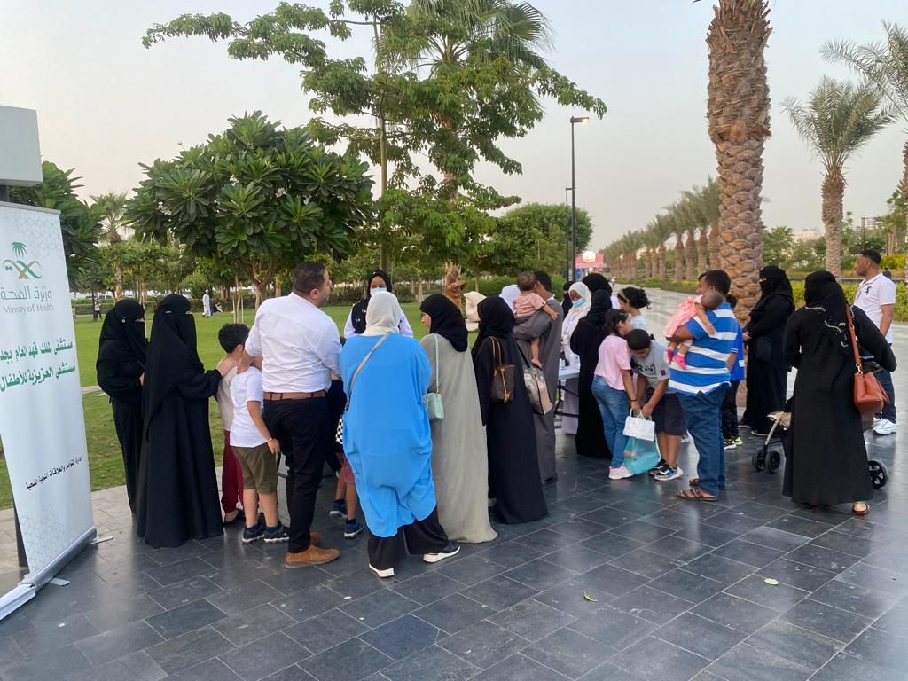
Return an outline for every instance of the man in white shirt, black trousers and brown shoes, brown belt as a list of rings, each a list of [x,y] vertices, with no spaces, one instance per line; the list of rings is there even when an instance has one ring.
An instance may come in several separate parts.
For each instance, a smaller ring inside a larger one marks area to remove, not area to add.
[[[340,373],[341,337],[319,308],[331,296],[328,271],[306,262],[293,271],[293,291],[262,302],[246,341],[239,372],[262,355],[262,418],[287,458],[290,544],[287,568],[322,565],[338,558],[336,548],[319,548],[310,532],[325,453],[331,443],[328,389]]]

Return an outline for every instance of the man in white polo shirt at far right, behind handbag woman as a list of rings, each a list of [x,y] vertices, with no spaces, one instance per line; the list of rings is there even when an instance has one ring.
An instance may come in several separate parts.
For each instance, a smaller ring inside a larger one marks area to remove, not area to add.
[[[880,333],[890,346],[893,344],[893,316],[895,314],[895,282],[880,273],[880,253],[867,249],[862,251],[854,262],[854,271],[864,277],[854,296],[854,307],[864,313],[880,328]],[[881,369],[876,372],[876,380],[886,394],[889,404],[883,405],[883,412],[877,414],[873,421],[873,432],[877,435],[895,433],[895,389],[892,374]]]

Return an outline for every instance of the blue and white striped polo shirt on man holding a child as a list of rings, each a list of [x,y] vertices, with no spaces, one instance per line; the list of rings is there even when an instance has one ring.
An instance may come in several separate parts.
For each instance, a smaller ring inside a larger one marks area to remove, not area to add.
[[[687,350],[686,369],[672,362],[668,387],[687,395],[710,393],[728,385],[728,355],[735,349],[735,339],[741,327],[727,302],[715,311],[706,311],[716,332],[710,336],[700,321],[692,319],[685,324],[693,337]]]

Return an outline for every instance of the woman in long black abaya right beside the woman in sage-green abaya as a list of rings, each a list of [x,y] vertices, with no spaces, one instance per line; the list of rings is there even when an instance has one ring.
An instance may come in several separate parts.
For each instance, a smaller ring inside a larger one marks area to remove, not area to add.
[[[511,333],[514,313],[498,296],[480,302],[478,311],[473,363],[489,449],[489,497],[497,499],[496,515],[502,522],[545,518],[548,508],[539,479],[533,410],[523,382],[523,360]],[[514,395],[507,404],[492,401],[492,372],[499,362],[514,366]]]

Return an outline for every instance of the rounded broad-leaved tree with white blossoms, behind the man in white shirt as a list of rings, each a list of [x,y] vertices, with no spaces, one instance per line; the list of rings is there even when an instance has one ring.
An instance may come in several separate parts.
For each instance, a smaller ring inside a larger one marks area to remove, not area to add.
[[[366,163],[325,150],[300,128],[261,112],[229,121],[207,143],[143,165],[147,179],[128,213],[143,239],[173,239],[237,267],[261,302],[289,262],[352,252],[353,232],[372,215],[372,183]]]

